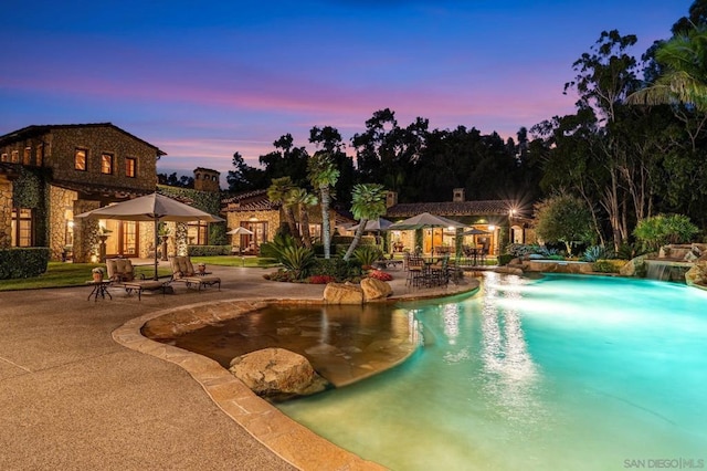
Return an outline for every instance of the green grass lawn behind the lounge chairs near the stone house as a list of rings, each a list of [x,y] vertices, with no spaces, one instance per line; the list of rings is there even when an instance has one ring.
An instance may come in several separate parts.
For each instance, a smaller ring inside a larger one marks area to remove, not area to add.
[[[203,262],[209,265],[220,266],[275,266],[272,259],[261,259],[256,257],[192,257],[192,263]],[[0,291],[10,290],[36,290],[41,287],[63,287],[63,286],[83,286],[86,281],[91,280],[91,270],[95,266],[102,266],[102,263],[62,263],[50,262],[45,273],[39,276],[25,278],[18,280],[0,280]],[[155,269],[152,266],[136,266],[136,274],[145,274],[145,278],[152,278]],[[169,265],[161,265],[158,269],[160,278],[171,276],[172,271]]]

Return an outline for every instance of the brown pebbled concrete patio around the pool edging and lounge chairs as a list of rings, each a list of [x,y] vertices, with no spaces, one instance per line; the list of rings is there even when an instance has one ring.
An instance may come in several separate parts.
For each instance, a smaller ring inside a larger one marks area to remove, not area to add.
[[[221,291],[178,285],[176,294],[147,294],[141,301],[113,287],[113,300],[97,302],[86,301],[88,286],[0,292],[0,469],[308,469],[254,438],[184,368],[114,341],[114,332],[137,317],[176,306],[218,300],[314,301],[324,291],[323,285],[268,282],[262,276],[268,270],[212,271],[222,279]],[[401,299],[454,294],[476,285],[472,279],[460,286],[409,290],[404,272],[392,273],[393,293]],[[321,448],[314,446],[312,452]],[[317,468],[341,468],[337,460],[329,467],[320,458]],[[363,461],[346,467],[377,468]]]

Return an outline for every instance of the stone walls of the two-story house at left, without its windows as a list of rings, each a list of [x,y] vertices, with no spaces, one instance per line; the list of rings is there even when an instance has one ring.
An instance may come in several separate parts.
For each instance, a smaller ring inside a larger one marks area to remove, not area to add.
[[[76,168],[76,153],[85,154],[84,168]],[[103,156],[110,166],[103,167]],[[48,191],[32,209],[34,236],[50,248],[52,260],[62,260],[73,242],[73,259],[92,261],[98,253],[97,221],[73,220],[84,211],[156,190],[157,158],[163,153],[110,123],[86,125],[29,126],[0,136],[0,160],[39,168]],[[1,163],[0,163],[1,165]],[[0,172],[0,247],[11,245],[13,186]],[[67,238],[73,223],[73,241]],[[140,224],[140,255],[147,255],[154,228]],[[46,238],[43,237],[46,227]],[[42,236],[42,237],[38,237]]]

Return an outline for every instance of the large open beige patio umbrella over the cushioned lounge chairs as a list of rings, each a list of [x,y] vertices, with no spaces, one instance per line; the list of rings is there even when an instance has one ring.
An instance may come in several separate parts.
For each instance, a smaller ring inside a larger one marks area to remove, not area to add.
[[[155,222],[155,280],[157,280],[157,247],[159,244],[158,228],[160,222],[220,222],[222,218],[209,214],[176,199],[154,192],[144,197],[105,206],[93,211],[76,214],[75,218],[117,219],[122,221]]]

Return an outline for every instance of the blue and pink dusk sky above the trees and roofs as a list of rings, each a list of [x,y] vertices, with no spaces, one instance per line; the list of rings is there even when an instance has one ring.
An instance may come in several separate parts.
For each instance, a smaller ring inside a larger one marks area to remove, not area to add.
[[[572,63],[619,30],[640,57],[692,0],[25,0],[0,6],[0,135],[110,122],[167,153],[158,171],[225,175],[292,134],[350,144],[401,126],[515,137],[571,113]],[[347,150],[354,154],[352,149]]]

